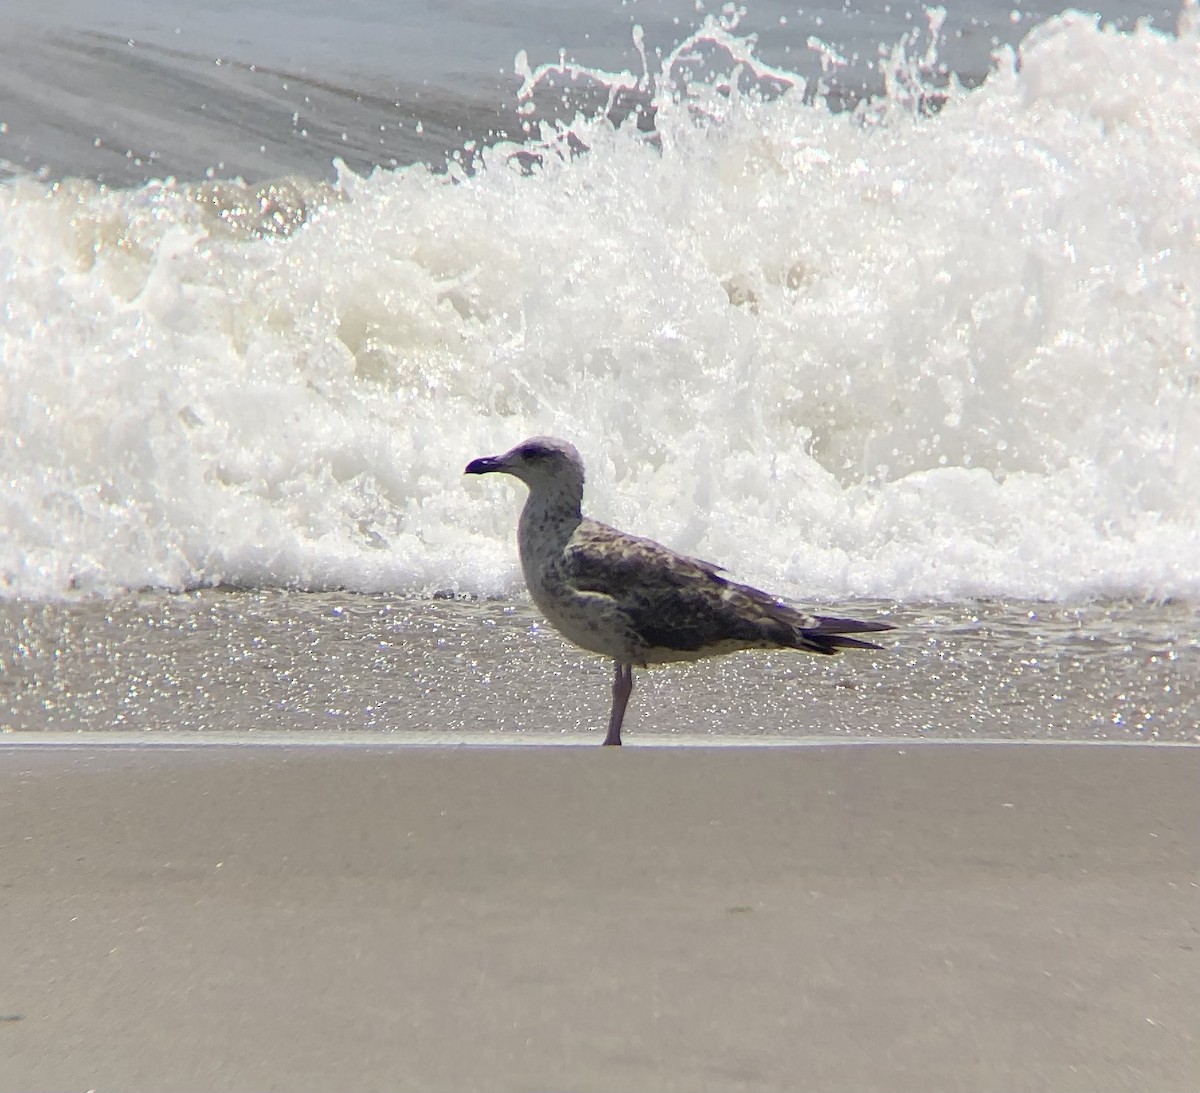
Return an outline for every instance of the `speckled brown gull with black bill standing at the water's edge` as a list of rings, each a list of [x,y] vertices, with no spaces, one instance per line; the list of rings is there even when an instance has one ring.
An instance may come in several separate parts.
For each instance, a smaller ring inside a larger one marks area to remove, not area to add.
[[[586,517],[583,461],[565,440],[533,437],[472,461],[464,473],[510,474],[529,487],[517,524],[521,569],[534,603],[563,637],[613,660],[606,745],[620,744],[635,667],[740,649],[878,649],[847,635],[892,629],[805,614],[730,581],[718,565]]]

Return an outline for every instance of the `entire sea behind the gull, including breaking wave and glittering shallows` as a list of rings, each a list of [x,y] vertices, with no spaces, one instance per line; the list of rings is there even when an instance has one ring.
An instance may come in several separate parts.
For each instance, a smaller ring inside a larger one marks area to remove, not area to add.
[[[5,8],[0,731],[590,739],[550,433],[896,626],[631,739],[1200,739],[1198,101],[1194,2]]]

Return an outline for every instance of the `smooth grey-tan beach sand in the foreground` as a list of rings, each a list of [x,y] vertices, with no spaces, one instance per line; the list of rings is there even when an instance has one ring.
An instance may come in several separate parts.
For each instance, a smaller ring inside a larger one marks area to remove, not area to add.
[[[1200,1087],[1200,749],[0,749],[0,1088]]]

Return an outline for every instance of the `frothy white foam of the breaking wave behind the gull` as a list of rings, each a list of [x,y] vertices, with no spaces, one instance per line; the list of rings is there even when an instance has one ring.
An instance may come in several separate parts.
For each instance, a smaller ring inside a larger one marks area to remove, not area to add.
[[[520,491],[462,468],[556,433],[594,515],[797,595],[1198,595],[1183,19],[1055,18],[936,113],[934,55],[835,113],[709,26],[634,77],[654,139],[8,182],[0,590],[511,590]]]

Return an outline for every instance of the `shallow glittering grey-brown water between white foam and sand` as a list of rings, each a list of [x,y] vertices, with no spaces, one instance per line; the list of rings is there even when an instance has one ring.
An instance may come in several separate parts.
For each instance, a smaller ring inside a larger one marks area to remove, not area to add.
[[[1186,603],[854,607],[895,624],[884,653],[636,672],[626,741],[1200,741]],[[607,723],[610,663],[521,600],[158,591],[0,603],[0,744],[598,744]]]

